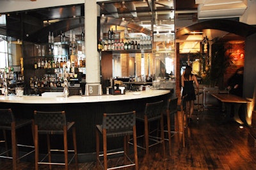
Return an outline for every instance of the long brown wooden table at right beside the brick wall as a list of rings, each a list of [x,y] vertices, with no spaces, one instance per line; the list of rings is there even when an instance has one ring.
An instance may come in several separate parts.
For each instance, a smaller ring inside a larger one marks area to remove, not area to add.
[[[244,121],[242,121],[239,116],[239,108],[241,107],[242,104],[252,102],[251,100],[230,93],[212,93],[211,95],[227,106],[226,118],[228,118],[228,116],[230,116],[232,112],[231,105],[234,105],[234,120],[237,121],[237,123],[244,124]]]

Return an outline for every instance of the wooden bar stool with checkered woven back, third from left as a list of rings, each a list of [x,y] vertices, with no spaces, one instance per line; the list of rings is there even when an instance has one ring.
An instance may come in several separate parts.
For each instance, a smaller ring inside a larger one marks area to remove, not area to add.
[[[122,113],[110,113],[103,114],[102,125],[96,125],[96,153],[97,153],[97,169],[99,169],[99,164],[103,169],[108,169],[108,155],[115,155],[124,153],[124,164],[118,167],[111,167],[109,169],[118,169],[135,166],[138,169],[138,156],[137,156],[137,141],[136,141],[136,119],[135,111],[132,112],[122,112]],[[99,154],[100,150],[100,140],[99,137],[103,137],[103,154]],[[127,155],[129,136],[134,137],[134,162]],[[107,139],[109,137],[124,137],[124,150],[123,151],[113,151],[107,153]],[[104,157],[104,165],[100,161],[100,157]],[[127,164],[127,158],[130,164]]]

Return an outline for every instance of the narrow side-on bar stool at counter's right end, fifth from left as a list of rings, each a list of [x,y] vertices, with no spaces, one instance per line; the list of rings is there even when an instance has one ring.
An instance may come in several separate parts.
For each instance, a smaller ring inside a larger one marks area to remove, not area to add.
[[[171,116],[174,115],[174,130],[171,130]],[[179,116],[178,116],[178,98],[172,98],[169,99],[166,106],[166,112],[164,112],[164,116],[167,118],[167,131],[164,130],[164,132],[168,132],[168,139],[164,139],[168,141],[169,144],[169,155],[172,155],[172,143],[171,143],[171,137],[173,135],[177,134],[179,137]],[[177,126],[177,128],[175,128]],[[177,131],[175,131],[175,129]],[[172,135],[173,134],[173,135]]]

